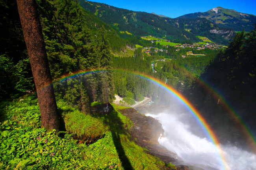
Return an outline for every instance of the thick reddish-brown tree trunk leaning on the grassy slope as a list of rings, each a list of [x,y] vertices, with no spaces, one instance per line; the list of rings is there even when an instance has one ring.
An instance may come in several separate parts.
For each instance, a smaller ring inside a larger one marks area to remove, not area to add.
[[[17,0],[17,5],[37,90],[42,127],[58,130],[59,116],[36,2]]]

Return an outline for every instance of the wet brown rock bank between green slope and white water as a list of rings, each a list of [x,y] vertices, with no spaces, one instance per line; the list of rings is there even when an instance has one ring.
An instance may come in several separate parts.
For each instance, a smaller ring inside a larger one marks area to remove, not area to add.
[[[128,130],[128,133],[131,135],[131,140],[134,140],[137,145],[147,149],[145,152],[159,157],[165,163],[172,163],[174,165],[182,164],[176,159],[176,154],[171,153],[158,143],[158,138],[163,134],[161,123],[150,116],[145,116],[137,112],[133,108],[119,110],[119,112],[134,123],[134,126]],[[178,169],[188,170],[189,168],[187,166],[179,166]]]

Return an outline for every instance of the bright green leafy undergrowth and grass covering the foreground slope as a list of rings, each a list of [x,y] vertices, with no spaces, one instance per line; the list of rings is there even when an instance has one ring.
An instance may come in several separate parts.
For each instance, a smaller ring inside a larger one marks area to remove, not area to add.
[[[41,128],[37,99],[0,103],[0,169],[162,169],[164,163],[129,141],[124,126],[129,119],[116,112],[82,115],[65,102],[58,111],[66,119],[67,132],[61,138]],[[76,117],[77,116],[77,117]],[[72,119],[72,120],[70,120]],[[72,136],[104,136],[87,146]]]

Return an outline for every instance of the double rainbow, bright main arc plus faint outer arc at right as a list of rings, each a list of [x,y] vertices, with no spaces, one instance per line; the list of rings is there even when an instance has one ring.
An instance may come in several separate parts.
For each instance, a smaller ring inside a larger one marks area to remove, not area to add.
[[[184,97],[182,96],[178,91],[176,91],[175,89],[173,89],[171,86],[165,84],[164,82],[140,73],[140,72],[131,72],[131,71],[125,71],[125,70],[121,70],[121,69],[91,69],[91,70],[82,70],[82,71],[77,71],[74,73],[69,73],[69,74],[65,74],[63,76],[61,76],[60,78],[54,80],[52,83],[50,83],[51,85],[53,85],[56,82],[60,82],[63,81],[67,78],[73,78],[79,75],[83,75],[83,74],[89,74],[89,73],[93,73],[93,72],[101,72],[101,71],[124,71],[124,72],[129,72],[131,74],[136,74],[138,76],[141,76],[143,78],[146,78],[147,80],[153,81],[155,83],[157,83],[158,85],[161,85],[161,87],[167,89],[169,92],[171,92],[172,94],[174,94],[176,97],[178,97],[193,113],[194,117],[198,120],[198,122],[200,123],[200,125],[204,128],[204,130],[206,131],[206,134],[208,136],[208,138],[211,140],[211,142],[213,142],[213,144],[216,146],[217,151],[221,157],[222,160],[222,166],[223,169],[230,169],[228,166],[228,163],[224,157],[224,152],[223,149],[221,148],[221,145],[219,143],[219,140],[217,138],[217,136],[215,135],[215,133],[213,132],[213,130],[210,128],[210,125],[206,122],[206,120],[202,117],[202,115],[198,112],[198,110]],[[207,85],[206,85],[207,86]],[[208,87],[208,89],[210,89],[210,87]],[[214,90],[212,90],[213,92],[215,92]],[[216,93],[216,92],[215,92]],[[215,94],[216,95],[216,94]],[[217,95],[219,96],[219,95]],[[222,98],[221,98],[222,99]],[[224,100],[223,100],[224,101]],[[232,109],[229,109],[232,110]],[[234,113],[234,112],[233,112]],[[237,115],[235,116],[237,119]],[[240,120],[241,122],[241,120]],[[253,138],[253,136],[250,134],[249,130],[246,128],[246,126],[243,126],[244,132],[246,132],[246,134],[249,134],[248,136],[250,137],[250,141],[252,143],[253,148],[256,148],[255,146],[255,139]],[[256,149],[255,149],[256,150]]]

